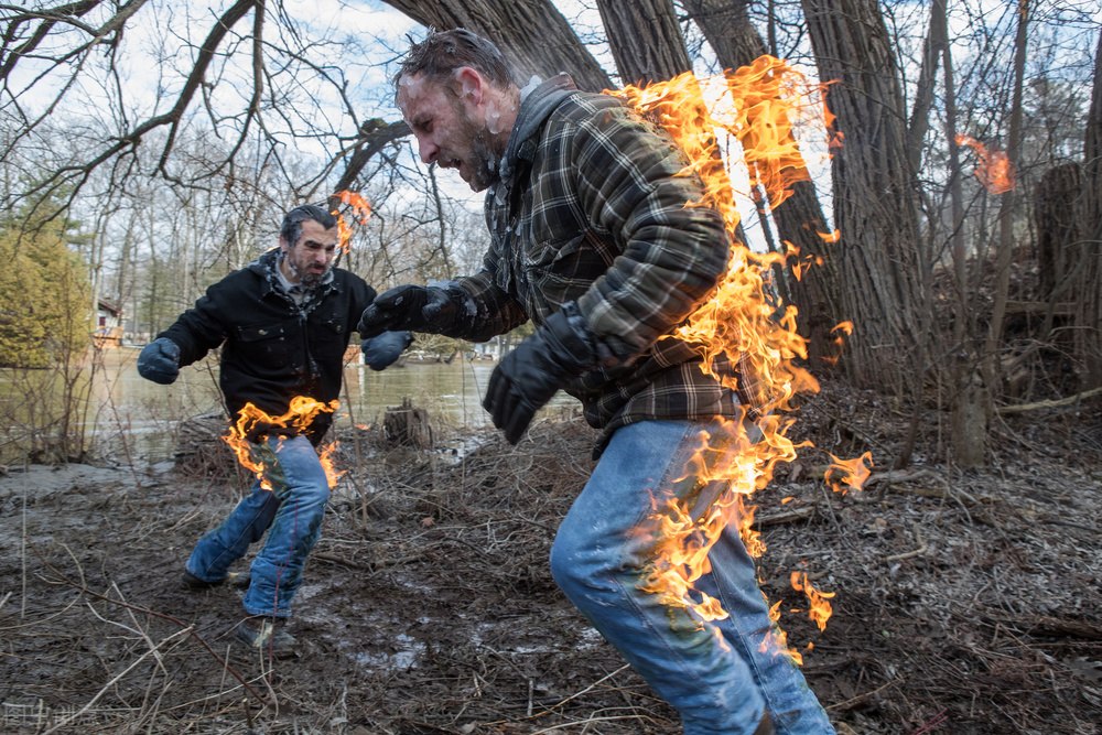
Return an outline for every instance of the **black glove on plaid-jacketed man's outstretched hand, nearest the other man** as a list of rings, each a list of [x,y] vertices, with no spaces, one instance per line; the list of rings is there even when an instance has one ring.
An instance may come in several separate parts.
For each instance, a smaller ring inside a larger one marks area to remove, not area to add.
[[[466,309],[466,293],[458,285],[399,285],[383,291],[364,310],[356,331],[368,339],[383,332],[412,329],[446,334]]]

